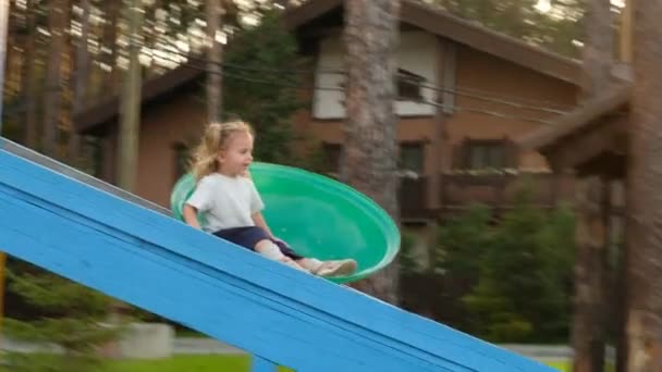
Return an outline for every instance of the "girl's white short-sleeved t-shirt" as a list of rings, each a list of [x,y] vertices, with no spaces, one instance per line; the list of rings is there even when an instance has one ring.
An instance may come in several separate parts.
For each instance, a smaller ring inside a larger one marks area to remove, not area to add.
[[[209,233],[255,226],[252,215],[265,208],[250,178],[220,173],[203,177],[186,203],[205,213],[203,230]]]

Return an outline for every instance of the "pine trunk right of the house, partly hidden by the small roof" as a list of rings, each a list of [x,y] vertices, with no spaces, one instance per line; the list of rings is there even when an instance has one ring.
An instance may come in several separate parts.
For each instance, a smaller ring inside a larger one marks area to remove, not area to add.
[[[583,49],[585,80],[583,98],[602,94],[611,87],[613,61],[610,0],[588,1],[584,17],[586,42]],[[608,185],[600,176],[577,182],[577,231],[575,255],[575,297],[572,345],[573,371],[602,372],[606,336],[608,219],[603,197]]]

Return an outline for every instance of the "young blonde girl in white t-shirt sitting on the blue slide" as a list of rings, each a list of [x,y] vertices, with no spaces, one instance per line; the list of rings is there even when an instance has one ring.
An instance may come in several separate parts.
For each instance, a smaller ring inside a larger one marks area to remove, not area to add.
[[[269,259],[320,276],[347,275],[356,261],[320,261],[297,255],[275,238],[261,210],[262,200],[249,178],[253,131],[244,122],[210,124],[194,154],[196,190],[184,206],[187,224],[254,250]],[[206,213],[200,226],[197,213]]]

